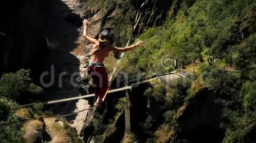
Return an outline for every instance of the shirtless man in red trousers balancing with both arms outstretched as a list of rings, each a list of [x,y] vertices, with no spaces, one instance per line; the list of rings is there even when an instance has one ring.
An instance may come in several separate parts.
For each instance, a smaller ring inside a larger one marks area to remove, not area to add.
[[[92,76],[94,86],[96,86],[95,96],[97,96],[98,99],[96,100],[94,106],[101,107],[100,105],[103,102],[102,99],[109,88],[108,75],[103,64],[105,57],[107,57],[111,51],[126,52],[128,50],[132,50],[137,46],[141,46],[143,41],[139,40],[132,46],[120,48],[113,46],[113,36],[111,36],[109,31],[102,30],[99,34],[99,38],[94,39],[91,38],[87,33],[88,22],[86,19],[83,20],[83,26],[83,37],[93,44],[93,49],[91,51],[92,56],[87,67],[87,74]]]

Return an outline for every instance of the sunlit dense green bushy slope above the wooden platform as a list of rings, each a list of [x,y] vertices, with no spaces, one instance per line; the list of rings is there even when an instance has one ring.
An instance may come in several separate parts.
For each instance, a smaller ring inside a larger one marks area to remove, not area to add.
[[[251,71],[254,10],[254,0],[184,0],[176,15],[140,36],[143,48],[129,52],[123,67],[132,65],[134,73],[161,70],[162,56],[173,55],[187,65],[212,59]]]

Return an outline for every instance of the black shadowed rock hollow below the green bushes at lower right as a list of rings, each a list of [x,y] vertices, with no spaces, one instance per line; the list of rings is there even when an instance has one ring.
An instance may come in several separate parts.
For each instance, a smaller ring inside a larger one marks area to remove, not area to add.
[[[219,129],[221,107],[215,103],[215,94],[211,90],[200,90],[177,116],[177,122],[182,130],[180,136],[193,143],[219,143],[222,139],[222,132]]]

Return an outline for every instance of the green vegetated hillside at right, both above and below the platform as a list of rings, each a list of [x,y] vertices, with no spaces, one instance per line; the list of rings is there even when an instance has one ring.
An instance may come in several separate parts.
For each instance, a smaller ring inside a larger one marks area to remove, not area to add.
[[[162,62],[169,55],[183,59],[188,69],[196,68],[196,79],[189,88],[159,86],[147,90],[145,94],[161,105],[164,119],[156,121],[148,113],[148,120],[142,123],[145,140],[196,142],[204,138],[205,134],[198,139],[187,136],[177,123],[179,112],[203,94],[213,97],[221,109],[219,134],[207,135],[212,139],[209,142],[256,142],[255,11],[255,0],[183,0],[178,10],[173,4],[162,26],[149,28],[139,37],[143,47],[126,54],[121,65],[129,75],[173,69]],[[241,73],[227,72],[230,70]],[[206,72],[211,76],[203,79],[203,84],[200,77]]]

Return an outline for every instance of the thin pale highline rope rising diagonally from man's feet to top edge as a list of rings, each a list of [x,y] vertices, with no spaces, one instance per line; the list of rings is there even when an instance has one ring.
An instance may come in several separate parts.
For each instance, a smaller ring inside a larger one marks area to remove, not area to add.
[[[133,35],[133,32],[135,31],[135,29],[136,29],[136,27],[137,27],[137,25],[138,25],[138,23],[139,23],[139,19],[140,19],[140,17],[141,17],[142,11],[144,10],[144,7],[143,7],[143,6],[144,6],[145,4],[147,4],[147,1],[148,1],[148,0],[145,0],[145,1],[144,1],[144,3],[140,6],[139,11],[138,11],[137,14],[136,14],[135,24],[134,24],[134,27],[133,27],[133,30],[132,30],[132,34],[131,34],[131,36],[130,36],[130,38],[129,38],[127,44],[126,44],[126,47],[127,47],[127,46],[129,45],[129,43],[130,43],[130,40],[131,40],[132,35]],[[141,11],[141,10],[142,10],[142,11]],[[141,12],[140,12],[140,11],[141,11]],[[140,12],[140,14],[139,14],[139,12]],[[138,16],[139,16],[139,17],[138,17]],[[114,68],[114,70],[113,70],[113,72],[112,72],[112,74],[111,74],[111,76],[110,76],[110,78],[109,78],[109,85],[111,85],[113,75],[114,75],[114,73],[116,72],[117,68],[119,67],[120,62],[122,61],[123,57],[124,57],[124,52],[121,54],[120,59],[117,61],[117,65],[116,65],[116,67]],[[109,88],[110,88],[110,87],[109,87]],[[105,95],[104,95],[104,97],[103,97],[103,99],[102,99],[103,101],[105,100],[105,97],[106,97],[106,95],[107,95],[107,93],[108,93],[108,91],[109,91],[109,88],[108,88],[108,90],[106,91],[106,93],[105,93]]]

